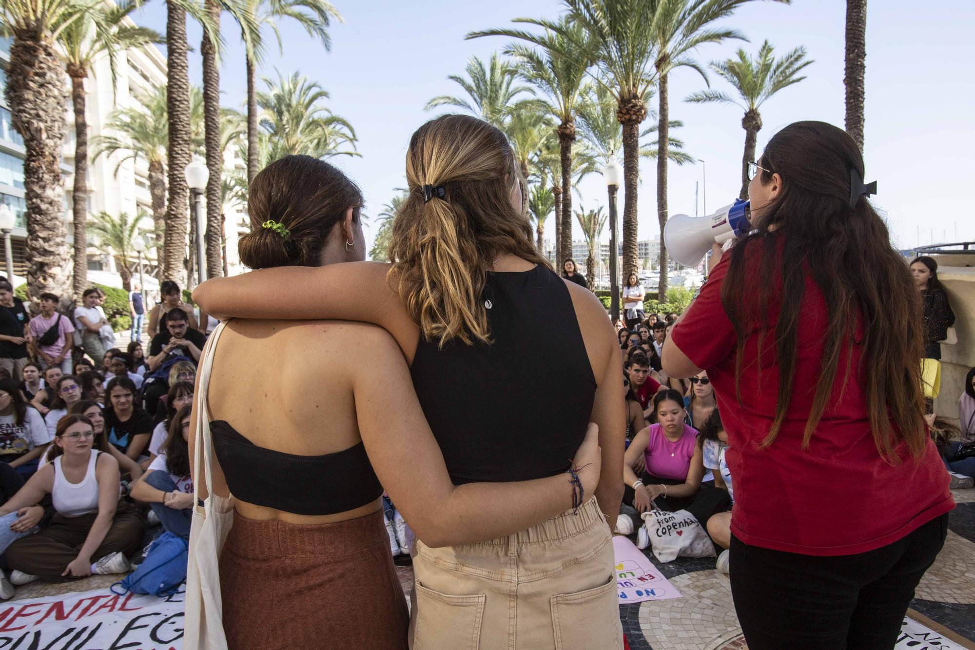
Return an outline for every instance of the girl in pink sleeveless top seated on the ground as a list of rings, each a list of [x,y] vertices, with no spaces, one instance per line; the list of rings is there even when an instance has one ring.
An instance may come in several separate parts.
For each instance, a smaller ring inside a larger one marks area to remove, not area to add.
[[[687,510],[707,529],[708,519],[731,508],[726,490],[701,483],[704,463],[696,444],[697,429],[685,425],[683,397],[677,390],[661,390],[653,398],[656,424],[637,433],[623,463],[623,502],[640,512],[661,508]],[[643,456],[645,471],[634,467]]]

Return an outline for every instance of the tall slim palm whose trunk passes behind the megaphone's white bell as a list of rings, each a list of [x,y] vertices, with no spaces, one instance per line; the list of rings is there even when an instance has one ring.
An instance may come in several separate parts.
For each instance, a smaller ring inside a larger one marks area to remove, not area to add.
[[[783,0],[789,2],[790,0]],[[734,13],[740,5],[751,0],[652,0],[653,21],[649,25],[656,59],[657,72],[657,221],[660,223],[660,289],[667,295],[667,246],[664,226],[667,225],[667,145],[670,142],[669,77],[678,67],[697,70],[707,81],[701,65],[690,54],[705,43],[721,43],[728,38],[748,40],[737,29],[712,26]]]

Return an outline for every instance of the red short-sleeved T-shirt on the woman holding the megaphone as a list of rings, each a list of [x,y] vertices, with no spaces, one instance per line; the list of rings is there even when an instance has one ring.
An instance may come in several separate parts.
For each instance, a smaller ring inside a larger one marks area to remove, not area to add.
[[[761,243],[749,244],[746,278],[760,277],[760,252]],[[840,398],[847,354],[847,348],[841,348],[830,403],[808,449],[800,448],[820,375],[827,325],[826,302],[808,276],[786,421],[775,441],[766,449],[759,448],[775,417],[779,372],[774,328],[780,302],[775,294],[769,299],[765,318],[770,329],[762,341],[761,375],[758,323],[744,344],[739,405],[735,397],[737,338],[721,303],[722,279],[730,257],[726,254],[712,271],[671,336],[694,365],[708,371],[715,386],[730,445],[726,459],[734,479],[731,531],[735,537],[761,548],[848,555],[892,544],[954,508],[948,473],[930,440],[919,462],[903,446],[897,450],[903,460],[900,465],[881,460],[863,389],[869,369],[860,365],[858,347],[853,349],[851,366],[856,376],[846,383]]]

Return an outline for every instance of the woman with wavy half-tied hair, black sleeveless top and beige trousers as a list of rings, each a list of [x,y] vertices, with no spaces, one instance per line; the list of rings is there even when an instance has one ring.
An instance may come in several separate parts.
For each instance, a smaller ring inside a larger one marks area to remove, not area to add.
[[[626,409],[605,309],[535,251],[518,166],[496,128],[432,120],[413,134],[406,172],[394,264],[255,271],[204,283],[194,301],[221,320],[381,325],[410,364],[455,485],[558,476],[587,423],[599,425],[606,471],[579,508],[476,544],[434,548],[418,533],[411,638],[416,650],[516,639],[533,650],[619,648],[610,531],[622,485],[611,468],[623,464]],[[344,245],[361,247],[361,235]]]

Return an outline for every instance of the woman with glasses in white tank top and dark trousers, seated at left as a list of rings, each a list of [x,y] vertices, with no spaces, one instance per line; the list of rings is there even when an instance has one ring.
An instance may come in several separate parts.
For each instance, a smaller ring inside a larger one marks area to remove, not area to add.
[[[79,415],[62,418],[55,432],[54,460],[0,508],[3,521],[50,494],[57,511],[47,528],[7,548],[15,585],[38,578],[62,583],[129,570],[127,557],[142,544],[142,522],[135,508],[119,500],[119,464],[111,454],[94,449],[94,443],[91,420]]]

